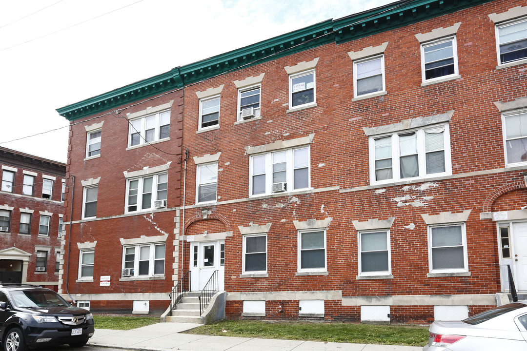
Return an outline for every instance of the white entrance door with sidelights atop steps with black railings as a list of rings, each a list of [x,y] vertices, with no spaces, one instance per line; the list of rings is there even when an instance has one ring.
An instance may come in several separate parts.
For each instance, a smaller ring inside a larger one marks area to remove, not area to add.
[[[201,291],[215,270],[218,270],[218,290],[223,290],[225,240],[194,242],[190,245],[192,291]]]

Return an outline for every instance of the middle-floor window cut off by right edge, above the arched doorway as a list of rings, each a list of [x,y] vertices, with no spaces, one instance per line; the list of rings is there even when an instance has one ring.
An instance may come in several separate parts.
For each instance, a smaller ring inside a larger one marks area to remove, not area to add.
[[[502,121],[506,165],[527,163],[527,111],[504,115]]]

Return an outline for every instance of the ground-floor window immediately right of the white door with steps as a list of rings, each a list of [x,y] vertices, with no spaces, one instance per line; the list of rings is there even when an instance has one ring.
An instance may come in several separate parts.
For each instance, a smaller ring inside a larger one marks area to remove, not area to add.
[[[243,236],[242,273],[266,273],[267,270],[267,235]]]

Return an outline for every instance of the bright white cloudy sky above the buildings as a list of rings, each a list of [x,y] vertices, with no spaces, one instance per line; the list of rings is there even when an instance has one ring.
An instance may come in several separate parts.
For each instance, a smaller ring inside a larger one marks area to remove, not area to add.
[[[66,162],[56,108],[393,1],[0,0],[0,146]]]

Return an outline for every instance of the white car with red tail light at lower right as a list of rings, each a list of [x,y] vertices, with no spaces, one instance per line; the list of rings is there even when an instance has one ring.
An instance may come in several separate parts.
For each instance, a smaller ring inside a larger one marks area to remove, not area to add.
[[[527,350],[527,301],[492,308],[464,320],[434,322],[423,351]]]

